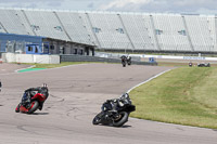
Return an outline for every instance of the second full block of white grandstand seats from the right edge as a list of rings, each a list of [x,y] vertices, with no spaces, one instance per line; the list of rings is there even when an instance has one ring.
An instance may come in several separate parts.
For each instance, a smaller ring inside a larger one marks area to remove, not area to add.
[[[181,15],[153,15],[157,40],[163,51],[191,51]],[[182,32],[181,32],[182,31]]]

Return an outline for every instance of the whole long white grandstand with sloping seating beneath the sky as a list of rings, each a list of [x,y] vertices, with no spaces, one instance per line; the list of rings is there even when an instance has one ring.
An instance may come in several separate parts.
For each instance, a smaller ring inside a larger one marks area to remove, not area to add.
[[[0,32],[111,51],[217,52],[215,15],[1,9]]]

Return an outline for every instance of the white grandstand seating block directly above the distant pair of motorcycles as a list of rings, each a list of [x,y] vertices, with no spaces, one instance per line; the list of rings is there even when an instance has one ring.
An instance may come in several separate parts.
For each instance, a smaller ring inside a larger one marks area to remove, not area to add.
[[[102,49],[132,49],[117,14],[90,13],[88,15]]]

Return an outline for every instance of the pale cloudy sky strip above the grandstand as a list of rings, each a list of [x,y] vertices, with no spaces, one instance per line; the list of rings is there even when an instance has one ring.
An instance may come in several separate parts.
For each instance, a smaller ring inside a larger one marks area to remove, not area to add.
[[[0,0],[1,8],[217,14],[217,0]]]

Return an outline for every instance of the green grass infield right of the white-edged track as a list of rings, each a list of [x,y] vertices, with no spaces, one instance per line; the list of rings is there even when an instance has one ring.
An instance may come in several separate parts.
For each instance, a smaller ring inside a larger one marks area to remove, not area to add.
[[[180,67],[132,90],[131,117],[217,129],[217,68]]]

